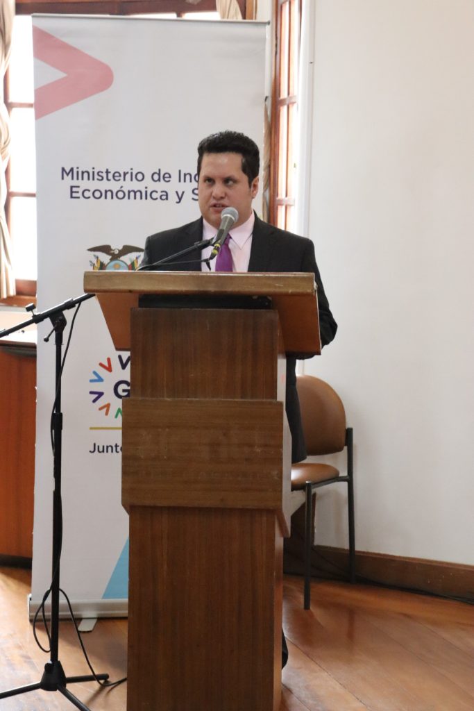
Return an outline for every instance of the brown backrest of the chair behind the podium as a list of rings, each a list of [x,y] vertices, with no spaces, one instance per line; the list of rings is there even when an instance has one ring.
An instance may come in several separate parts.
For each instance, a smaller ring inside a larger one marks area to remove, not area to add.
[[[345,447],[345,410],[333,388],[312,375],[296,380],[308,454],[333,454]]]

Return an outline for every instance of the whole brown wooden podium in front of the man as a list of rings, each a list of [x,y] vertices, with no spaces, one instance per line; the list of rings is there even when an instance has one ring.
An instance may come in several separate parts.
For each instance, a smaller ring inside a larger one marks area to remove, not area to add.
[[[313,274],[86,272],[118,350],[128,711],[276,711],[289,533],[286,352],[319,353]]]

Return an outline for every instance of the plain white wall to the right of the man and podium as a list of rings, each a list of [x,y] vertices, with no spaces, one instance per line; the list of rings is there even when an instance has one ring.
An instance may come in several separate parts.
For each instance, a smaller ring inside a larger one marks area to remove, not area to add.
[[[355,429],[357,549],[473,565],[474,4],[316,0],[313,31],[309,225],[339,331],[305,368]],[[321,492],[318,542],[346,545],[344,506]]]

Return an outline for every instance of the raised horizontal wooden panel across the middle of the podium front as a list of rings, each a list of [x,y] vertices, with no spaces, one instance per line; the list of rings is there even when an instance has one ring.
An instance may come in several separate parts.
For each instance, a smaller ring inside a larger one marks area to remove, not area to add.
[[[124,401],[122,503],[283,508],[284,407],[273,400]]]

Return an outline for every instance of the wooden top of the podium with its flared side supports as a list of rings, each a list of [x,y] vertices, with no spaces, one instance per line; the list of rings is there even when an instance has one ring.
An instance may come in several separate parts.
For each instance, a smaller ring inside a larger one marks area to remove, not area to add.
[[[286,351],[321,353],[313,273],[109,272],[84,274],[84,290],[97,295],[117,350],[128,350],[129,316],[139,296],[268,296],[279,312]]]

